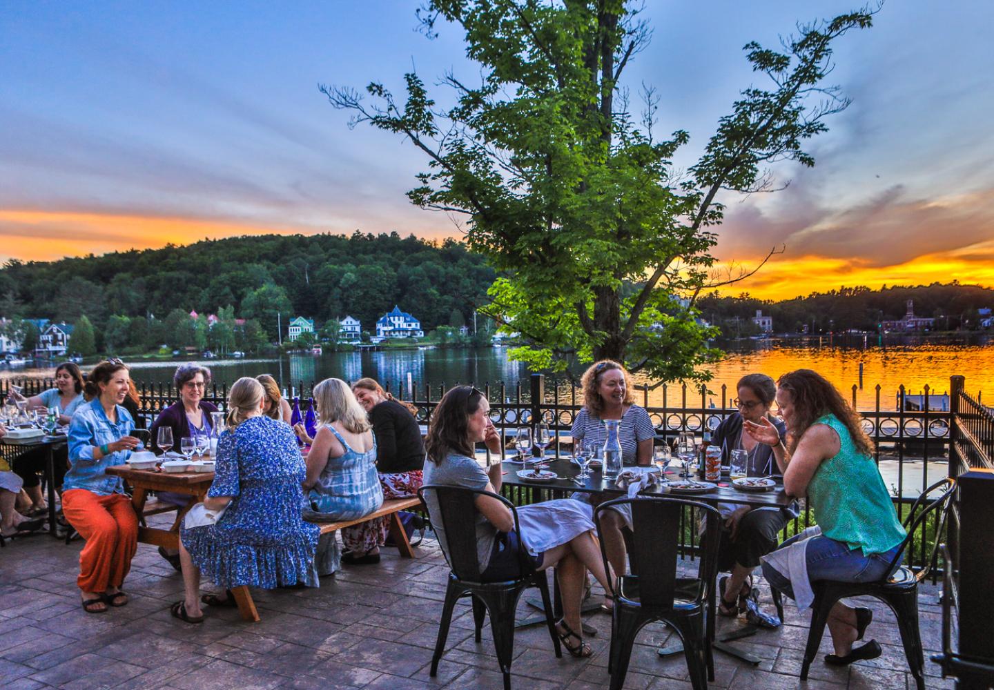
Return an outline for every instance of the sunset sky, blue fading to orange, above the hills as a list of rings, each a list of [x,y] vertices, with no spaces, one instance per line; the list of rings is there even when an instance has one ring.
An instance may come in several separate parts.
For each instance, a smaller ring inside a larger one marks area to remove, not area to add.
[[[336,111],[318,83],[396,92],[472,77],[462,37],[414,31],[418,0],[10,2],[0,8],[0,260],[58,259],[260,233],[456,234],[405,197],[424,159]],[[627,84],[658,87],[657,130],[700,155],[745,86],[747,41],[855,3],[650,0]],[[781,165],[776,194],[729,198],[717,256],[770,298],[959,278],[994,285],[994,3],[890,0],[836,46],[853,98]],[[442,89],[432,86],[444,97]]]

